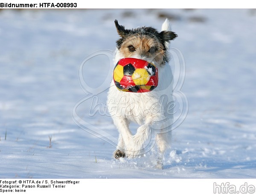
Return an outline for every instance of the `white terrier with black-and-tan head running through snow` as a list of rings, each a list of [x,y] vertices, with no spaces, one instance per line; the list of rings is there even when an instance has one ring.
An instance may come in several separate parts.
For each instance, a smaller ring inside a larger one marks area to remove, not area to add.
[[[120,36],[116,41],[114,65],[126,57],[146,60],[157,66],[159,80],[153,91],[145,93],[119,91],[114,82],[111,82],[107,106],[119,131],[118,145],[113,156],[120,159],[144,154],[143,145],[150,137],[156,137],[158,153],[162,156],[170,147],[173,118],[172,110],[166,108],[166,102],[171,102],[173,98],[173,75],[168,65],[168,46],[177,34],[169,30],[168,19],[163,23],[160,32],[153,27],[145,26],[125,29],[117,20],[114,23]],[[129,128],[131,122],[140,125],[134,135]],[[160,160],[157,163],[162,165]]]

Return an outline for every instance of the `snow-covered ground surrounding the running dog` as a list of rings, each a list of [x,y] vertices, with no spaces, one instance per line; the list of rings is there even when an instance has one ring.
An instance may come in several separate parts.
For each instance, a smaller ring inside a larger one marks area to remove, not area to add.
[[[160,29],[164,15],[186,61],[189,112],[158,170],[154,151],[113,159],[105,102],[114,19]],[[255,23],[250,9],[0,10],[0,177],[256,178]]]

